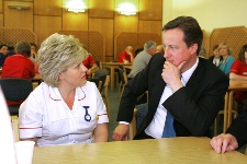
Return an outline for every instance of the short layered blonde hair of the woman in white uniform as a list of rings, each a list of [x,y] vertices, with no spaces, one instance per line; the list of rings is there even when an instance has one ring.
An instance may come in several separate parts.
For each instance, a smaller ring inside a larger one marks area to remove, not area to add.
[[[37,51],[40,68],[44,82],[50,86],[60,84],[59,74],[69,66],[82,62],[87,56],[79,39],[72,35],[53,34],[46,38]]]

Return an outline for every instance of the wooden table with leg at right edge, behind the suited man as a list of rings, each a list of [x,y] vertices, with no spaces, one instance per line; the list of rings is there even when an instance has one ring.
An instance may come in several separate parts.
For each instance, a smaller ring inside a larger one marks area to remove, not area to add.
[[[233,102],[234,102],[234,93],[236,91],[247,91],[247,81],[238,81],[238,80],[231,80],[229,86],[228,86],[228,106],[227,106],[227,115],[224,114],[224,121],[226,119],[227,127],[224,127],[225,130],[229,127],[232,124],[232,109],[233,109]]]

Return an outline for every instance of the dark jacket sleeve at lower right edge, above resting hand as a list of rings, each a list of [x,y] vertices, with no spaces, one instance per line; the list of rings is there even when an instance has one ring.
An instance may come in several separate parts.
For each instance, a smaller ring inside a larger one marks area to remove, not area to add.
[[[247,110],[244,110],[226,130],[226,133],[235,136],[238,148],[247,143]]]

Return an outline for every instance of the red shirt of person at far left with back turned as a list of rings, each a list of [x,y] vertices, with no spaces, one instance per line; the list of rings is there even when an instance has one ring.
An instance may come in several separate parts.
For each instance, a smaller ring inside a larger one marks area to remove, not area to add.
[[[34,63],[22,54],[5,58],[1,78],[20,78],[31,80],[35,75]]]

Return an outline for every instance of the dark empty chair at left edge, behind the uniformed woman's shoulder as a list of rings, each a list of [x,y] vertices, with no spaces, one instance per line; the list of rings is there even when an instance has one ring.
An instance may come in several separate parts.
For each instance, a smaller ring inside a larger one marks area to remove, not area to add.
[[[5,99],[11,102],[23,102],[33,91],[32,81],[25,79],[0,79],[0,85]],[[20,105],[8,105],[11,116],[19,115]]]

